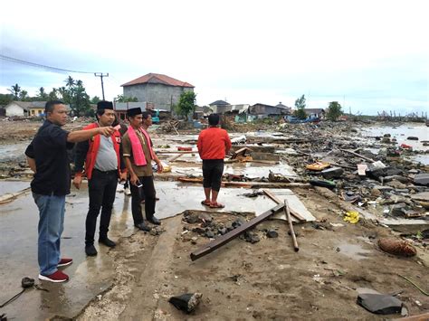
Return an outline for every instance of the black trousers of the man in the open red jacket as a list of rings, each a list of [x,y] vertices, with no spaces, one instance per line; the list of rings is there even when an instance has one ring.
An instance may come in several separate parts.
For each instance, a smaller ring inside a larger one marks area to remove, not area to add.
[[[100,239],[107,237],[117,185],[118,171],[100,172],[95,168],[93,169],[91,180],[88,181],[90,210],[86,215],[85,223],[85,243],[87,245],[94,243],[95,228],[97,226],[97,217],[99,216],[100,209]]]

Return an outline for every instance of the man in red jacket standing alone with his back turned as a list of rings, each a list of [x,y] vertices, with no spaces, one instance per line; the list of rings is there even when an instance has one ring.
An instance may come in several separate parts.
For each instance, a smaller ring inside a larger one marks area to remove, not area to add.
[[[231,139],[226,130],[217,127],[219,115],[211,114],[208,117],[208,128],[198,137],[198,154],[203,160],[203,186],[205,200],[201,202],[211,208],[224,208],[217,203],[217,195],[221,189],[222,175],[224,174],[224,157],[231,149]],[[210,198],[210,194],[212,198]]]

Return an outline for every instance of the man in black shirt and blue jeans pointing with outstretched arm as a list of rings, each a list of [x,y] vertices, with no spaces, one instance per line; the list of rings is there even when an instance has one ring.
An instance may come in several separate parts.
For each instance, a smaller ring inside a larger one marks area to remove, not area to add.
[[[60,250],[65,195],[70,194],[71,184],[67,150],[74,146],[73,143],[99,134],[110,137],[115,130],[108,126],[67,132],[62,129],[67,122],[67,109],[62,101],[48,101],[44,110],[46,120],[27,146],[25,155],[34,172],[31,186],[34,202],[39,208],[39,279],[59,283],[69,277],[58,268],[72,262],[62,258]]]

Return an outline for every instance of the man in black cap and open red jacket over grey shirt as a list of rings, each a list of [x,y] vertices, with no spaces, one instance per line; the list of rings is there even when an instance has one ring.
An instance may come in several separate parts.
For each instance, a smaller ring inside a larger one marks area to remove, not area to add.
[[[96,117],[97,122],[83,129],[111,126],[115,120],[113,104],[110,101],[99,101]],[[85,253],[88,256],[97,255],[94,235],[100,210],[99,243],[110,248],[116,246],[116,243],[109,239],[108,232],[118,178],[120,180],[127,179],[120,140],[119,130],[115,130],[110,137],[92,137],[76,146],[73,185],[77,189],[81,188],[83,165],[85,165],[90,195],[90,209],[85,222]]]

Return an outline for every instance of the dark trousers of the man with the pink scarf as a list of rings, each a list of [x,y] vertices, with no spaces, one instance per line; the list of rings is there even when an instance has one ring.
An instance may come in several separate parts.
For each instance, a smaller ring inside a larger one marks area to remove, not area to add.
[[[142,195],[145,197],[145,214],[146,219],[151,220],[155,214],[155,185],[153,176],[139,176],[138,180],[142,187],[137,187],[130,184],[131,187],[131,212],[134,224],[143,222],[143,214],[141,213]],[[141,193],[143,189],[143,193]]]

